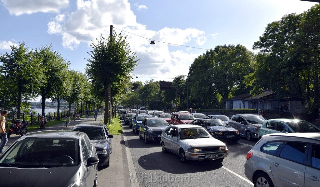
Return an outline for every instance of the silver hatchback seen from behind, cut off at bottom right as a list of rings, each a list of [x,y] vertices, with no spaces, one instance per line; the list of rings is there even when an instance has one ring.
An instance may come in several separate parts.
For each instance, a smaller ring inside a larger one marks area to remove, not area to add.
[[[267,134],[247,153],[245,176],[255,187],[319,187],[320,134]]]

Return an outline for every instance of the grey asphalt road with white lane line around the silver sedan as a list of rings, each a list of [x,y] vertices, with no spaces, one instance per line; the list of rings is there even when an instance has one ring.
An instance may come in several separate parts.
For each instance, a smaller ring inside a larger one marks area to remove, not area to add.
[[[238,142],[227,142],[228,156],[219,161],[180,162],[179,155],[163,153],[160,142],[145,144],[139,135],[124,126],[136,176],[140,187],[152,186],[253,186],[244,175],[247,152],[256,141],[241,138]]]

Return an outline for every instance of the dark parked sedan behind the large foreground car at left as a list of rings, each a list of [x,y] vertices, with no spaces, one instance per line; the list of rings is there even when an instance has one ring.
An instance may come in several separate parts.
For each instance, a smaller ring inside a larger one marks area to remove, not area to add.
[[[71,130],[84,132],[89,136],[92,145],[97,149],[99,166],[108,167],[110,165],[113,135],[110,135],[104,124],[78,124]]]

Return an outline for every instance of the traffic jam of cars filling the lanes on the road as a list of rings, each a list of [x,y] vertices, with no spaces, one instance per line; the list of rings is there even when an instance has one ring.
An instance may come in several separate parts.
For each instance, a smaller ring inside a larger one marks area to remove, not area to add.
[[[320,129],[300,119],[265,119],[257,114],[194,118],[189,112],[158,117],[128,117],[132,131],[145,143],[160,141],[162,152],[181,162],[220,160],[228,156],[224,142],[241,137],[258,142],[247,153],[245,176],[260,187],[320,186]],[[293,175],[294,174],[294,175]]]

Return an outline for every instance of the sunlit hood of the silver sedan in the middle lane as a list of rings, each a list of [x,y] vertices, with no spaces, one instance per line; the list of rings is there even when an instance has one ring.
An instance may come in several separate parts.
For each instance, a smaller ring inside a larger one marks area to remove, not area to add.
[[[197,138],[197,139],[185,139],[180,140],[184,144],[188,144],[190,148],[200,148],[200,147],[217,147],[225,146],[226,144],[215,138]]]

